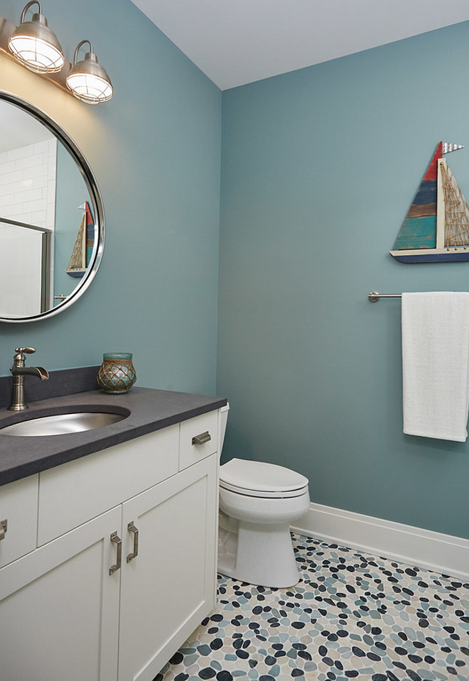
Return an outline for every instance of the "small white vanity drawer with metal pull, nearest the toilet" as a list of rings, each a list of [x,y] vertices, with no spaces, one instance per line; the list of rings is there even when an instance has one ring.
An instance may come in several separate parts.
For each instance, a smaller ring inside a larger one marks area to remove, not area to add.
[[[210,411],[180,424],[179,470],[215,454],[218,412]],[[195,439],[194,439],[195,438]],[[200,444],[198,444],[198,440]],[[206,442],[205,442],[206,440]]]

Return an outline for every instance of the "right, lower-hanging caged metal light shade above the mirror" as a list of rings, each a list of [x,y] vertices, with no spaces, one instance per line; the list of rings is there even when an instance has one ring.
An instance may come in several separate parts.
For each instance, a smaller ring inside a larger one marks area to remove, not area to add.
[[[83,43],[90,45],[90,52],[85,54],[85,59],[77,62],[78,50]],[[111,79],[101,65],[98,64],[93,46],[90,40],[82,40],[77,45],[73,57],[73,65],[66,78],[67,87],[82,102],[87,104],[99,104],[107,102],[112,97]]]

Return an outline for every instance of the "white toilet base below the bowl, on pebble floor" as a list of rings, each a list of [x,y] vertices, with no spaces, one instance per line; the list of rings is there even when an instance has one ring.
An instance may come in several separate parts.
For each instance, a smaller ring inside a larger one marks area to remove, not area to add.
[[[287,523],[266,525],[228,518],[222,513],[218,572],[248,584],[287,589],[298,584]]]

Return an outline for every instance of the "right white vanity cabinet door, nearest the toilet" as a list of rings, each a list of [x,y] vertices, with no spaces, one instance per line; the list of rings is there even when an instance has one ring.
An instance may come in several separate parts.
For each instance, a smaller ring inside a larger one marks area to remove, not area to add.
[[[124,503],[119,681],[151,681],[214,608],[216,509],[216,456]]]

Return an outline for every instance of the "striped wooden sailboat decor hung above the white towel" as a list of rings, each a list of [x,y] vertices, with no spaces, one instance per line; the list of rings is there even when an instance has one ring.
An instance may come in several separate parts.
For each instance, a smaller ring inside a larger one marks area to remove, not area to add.
[[[444,153],[462,145],[440,142],[389,253],[402,263],[469,261],[469,206]]]

